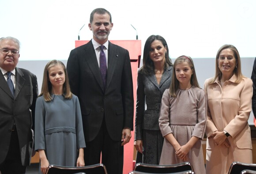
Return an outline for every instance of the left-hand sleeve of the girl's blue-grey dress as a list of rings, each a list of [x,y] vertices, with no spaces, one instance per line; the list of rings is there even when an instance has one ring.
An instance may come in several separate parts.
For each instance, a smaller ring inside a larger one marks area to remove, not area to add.
[[[45,106],[44,98],[39,97],[35,107],[35,151],[45,150]]]

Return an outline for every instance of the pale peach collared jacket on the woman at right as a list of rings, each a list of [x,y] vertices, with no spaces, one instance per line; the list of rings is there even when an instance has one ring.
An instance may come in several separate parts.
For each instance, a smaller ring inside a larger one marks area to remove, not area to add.
[[[218,78],[213,84],[209,84],[211,79],[205,81],[208,102],[206,135],[210,137],[216,130],[226,130],[237,148],[252,149],[248,125],[252,110],[252,80],[242,78],[240,83],[235,83],[236,79],[233,75],[223,86]],[[213,143],[207,143],[207,149],[213,148],[211,145],[214,147]]]

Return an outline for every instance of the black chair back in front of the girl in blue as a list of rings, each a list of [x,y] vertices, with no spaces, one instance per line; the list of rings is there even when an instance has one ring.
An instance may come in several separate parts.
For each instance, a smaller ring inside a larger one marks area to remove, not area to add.
[[[46,174],[107,174],[106,167],[103,164],[94,164],[84,167],[64,167],[50,165]]]

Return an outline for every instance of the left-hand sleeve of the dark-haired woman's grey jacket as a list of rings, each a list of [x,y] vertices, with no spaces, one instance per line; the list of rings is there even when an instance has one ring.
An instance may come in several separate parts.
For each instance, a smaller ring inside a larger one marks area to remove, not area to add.
[[[136,99],[136,113],[135,113],[135,138],[134,140],[142,140],[142,120],[145,111],[145,93],[143,84],[143,74],[138,72],[137,79],[137,99]]]

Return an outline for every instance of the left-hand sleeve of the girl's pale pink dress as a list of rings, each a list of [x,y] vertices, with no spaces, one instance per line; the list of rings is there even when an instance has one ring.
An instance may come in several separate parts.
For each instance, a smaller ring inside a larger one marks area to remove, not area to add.
[[[173,133],[170,125],[170,102],[169,89],[166,89],[162,96],[161,108],[159,113],[159,127],[163,137],[167,134]]]

